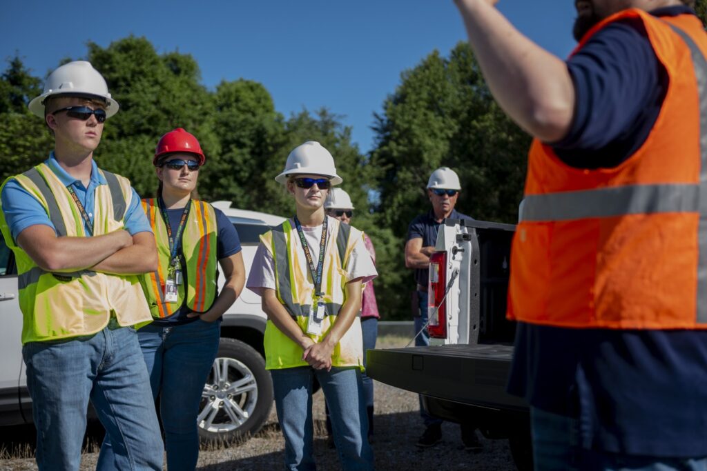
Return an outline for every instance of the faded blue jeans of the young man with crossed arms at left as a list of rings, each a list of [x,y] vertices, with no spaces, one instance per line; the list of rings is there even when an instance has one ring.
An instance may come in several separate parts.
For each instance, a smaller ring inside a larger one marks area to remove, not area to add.
[[[95,335],[22,347],[40,470],[78,470],[88,401],[115,446],[120,470],[162,470],[163,445],[133,328],[115,318]],[[96,469],[103,470],[101,448]]]

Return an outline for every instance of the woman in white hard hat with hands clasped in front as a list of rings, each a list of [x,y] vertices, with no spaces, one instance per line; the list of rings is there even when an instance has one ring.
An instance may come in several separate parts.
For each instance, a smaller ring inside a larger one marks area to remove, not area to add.
[[[306,142],[276,178],[296,215],[261,236],[247,287],[268,316],[265,365],[285,437],[286,469],[314,469],[312,384],[324,390],[344,470],[372,470],[361,387],[361,293],[377,275],[358,229],[327,217],[329,189],[341,183],[328,150]]]

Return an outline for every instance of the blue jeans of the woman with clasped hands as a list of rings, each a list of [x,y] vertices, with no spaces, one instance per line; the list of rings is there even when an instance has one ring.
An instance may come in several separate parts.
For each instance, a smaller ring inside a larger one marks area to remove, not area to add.
[[[285,437],[285,469],[315,470],[312,456],[312,382],[315,376],[324,391],[332,417],[334,443],[341,467],[373,470],[373,450],[368,444],[366,407],[361,388],[361,370],[309,366],[270,370],[275,407]]]

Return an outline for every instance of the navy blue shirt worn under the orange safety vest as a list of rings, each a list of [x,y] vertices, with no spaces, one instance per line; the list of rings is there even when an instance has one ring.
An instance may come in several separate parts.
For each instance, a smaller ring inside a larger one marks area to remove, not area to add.
[[[686,6],[654,16],[694,14]],[[575,119],[556,154],[614,167],[645,141],[667,76],[645,29],[609,25],[568,60]],[[665,156],[669,158],[669,155]],[[581,269],[581,268],[578,268]],[[580,419],[583,445],[650,456],[707,455],[707,332],[570,329],[518,323],[510,393]]]

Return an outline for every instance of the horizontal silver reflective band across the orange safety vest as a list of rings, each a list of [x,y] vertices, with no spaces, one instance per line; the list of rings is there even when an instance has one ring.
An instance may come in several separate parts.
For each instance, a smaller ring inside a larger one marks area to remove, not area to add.
[[[698,184],[629,185],[526,195],[524,222],[569,221],[630,214],[696,213]]]

